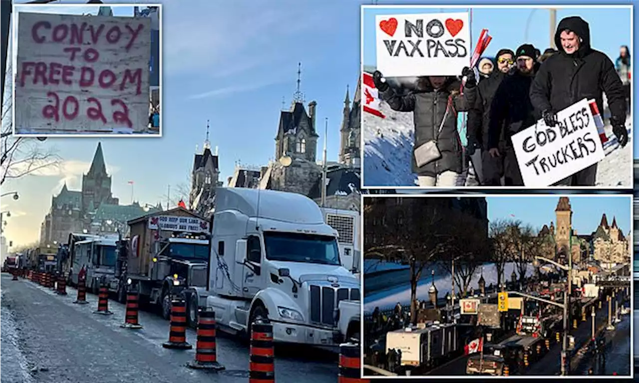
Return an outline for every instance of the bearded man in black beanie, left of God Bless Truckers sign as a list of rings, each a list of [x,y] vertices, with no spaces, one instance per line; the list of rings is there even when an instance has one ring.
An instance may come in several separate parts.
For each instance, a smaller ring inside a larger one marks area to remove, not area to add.
[[[488,126],[489,155],[503,157],[505,186],[523,186],[511,137],[537,121],[529,95],[535,75],[535,47],[524,44],[516,52],[515,70],[502,80],[495,93]],[[500,149],[502,137],[505,145]]]

